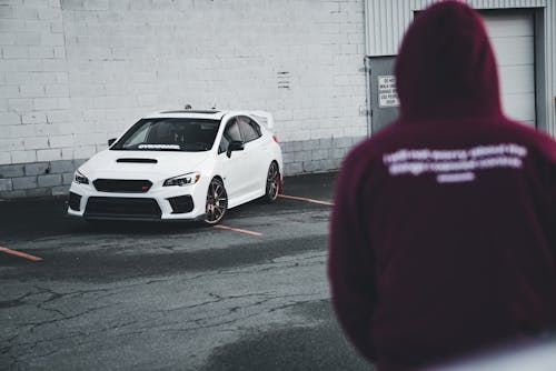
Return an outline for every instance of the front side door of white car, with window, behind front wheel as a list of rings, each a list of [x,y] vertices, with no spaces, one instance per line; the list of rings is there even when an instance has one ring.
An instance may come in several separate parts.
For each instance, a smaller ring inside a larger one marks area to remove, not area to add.
[[[234,207],[235,200],[246,193],[250,172],[245,151],[234,151],[228,157],[228,146],[231,141],[244,141],[237,118],[228,120],[218,147],[218,168],[224,177],[229,207]]]

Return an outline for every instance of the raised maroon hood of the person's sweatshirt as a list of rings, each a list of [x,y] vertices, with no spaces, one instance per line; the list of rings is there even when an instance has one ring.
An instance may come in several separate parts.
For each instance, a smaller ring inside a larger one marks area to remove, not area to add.
[[[404,121],[502,114],[493,48],[483,20],[463,2],[417,13],[395,69]]]

